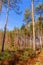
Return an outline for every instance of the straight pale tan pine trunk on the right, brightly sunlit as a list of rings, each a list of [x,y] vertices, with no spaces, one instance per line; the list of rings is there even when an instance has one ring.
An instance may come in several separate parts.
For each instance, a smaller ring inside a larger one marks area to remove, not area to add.
[[[32,0],[33,50],[35,50],[34,0]]]

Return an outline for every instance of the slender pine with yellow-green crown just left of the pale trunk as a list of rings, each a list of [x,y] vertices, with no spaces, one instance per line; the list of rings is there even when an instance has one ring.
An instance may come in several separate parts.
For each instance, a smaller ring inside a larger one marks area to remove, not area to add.
[[[31,11],[30,11],[30,9],[26,9],[26,10],[25,10],[24,20],[25,20],[25,23],[26,23],[26,29],[28,30],[28,25],[29,25],[29,23],[31,22]],[[28,32],[28,33],[29,33],[29,32]],[[26,33],[25,36],[27,36],[27,33]],[[30,34],[30,40],[31,40],[31,34]],[[31,42],[30,42],[30,44],[31,44]]]

